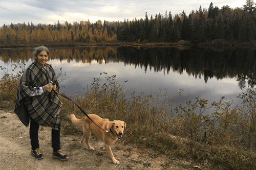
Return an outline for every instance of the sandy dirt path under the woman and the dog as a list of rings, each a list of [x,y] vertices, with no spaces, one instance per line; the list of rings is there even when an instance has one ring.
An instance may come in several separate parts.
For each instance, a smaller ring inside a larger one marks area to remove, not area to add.
[[[80,144],[81,136],[62,135],[62,151],[70,160],[62,162],[52,157],[51,128],[39,129],[40,149],[44,159],[36,160],[31,155],[29,128],[25,127],[12,111],[0,110],[0,167],[1,169],[184,169],[185,161],[166,165],[166,158],[151,157],[151,151],[141,151],[132,145],[123,145],[117,141],[112,146],[115,158],[120,164],[115,165],[108,153],[100,150],[103,142],[91,139],[94,151],[85,149]],[[183,166],[184,167],[184,166]]]

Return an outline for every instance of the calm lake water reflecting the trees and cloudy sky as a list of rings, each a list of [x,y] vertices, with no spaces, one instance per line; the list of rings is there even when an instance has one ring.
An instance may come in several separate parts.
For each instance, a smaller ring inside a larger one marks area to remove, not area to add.
[[[184,50],[177,48],[147,47],[77,47],[49,48],[50,64],[56,73],[62,68],[66,79],[61,82],[60,92],[68,95],[84,94],[93,78],[101,72],[116,75],[127,98],[136,95],[156,94],[166,89],[169,100],[183,89],[177,103],[194,100],[197,96],[219,101],[239,103],[236,96],[243,92],[241,87],[254,86],[256,51],[242,50]],[[18,59],[32,62],[33,48],[1,49],[0,65],[12,72]],[[1,70],[1,77],[4,72]],[[104,75],[101,75],[102,84]]]

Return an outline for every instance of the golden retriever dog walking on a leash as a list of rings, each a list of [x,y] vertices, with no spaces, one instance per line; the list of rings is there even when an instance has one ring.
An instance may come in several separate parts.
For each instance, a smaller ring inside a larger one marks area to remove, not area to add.
[[[81,143],[83,144],[84,139],[86,139],[86,144],[89,150],[94,150],[89,143],[89,139],[91,137],[91,132],[97,136],[100,140],[105,143],[105,148],[109,153],[114,164],[119,164],[120,162],[115,159],[111,145],[114,144],[117,139],[122,137],[123,131],[126,128],[126,124],[121,120],[114,120],[111,122],[108,118],[101,118],[96,114],[89,114],[89,117],[95,122],[100,128],[103,130],[108,130],[109,132],[105,132],[97,127],[87,116],[84,116],[82,119],[76,118],[74,114],[71,114],[71,121],[74,125],[82,125],[83,136],[81,139]]]

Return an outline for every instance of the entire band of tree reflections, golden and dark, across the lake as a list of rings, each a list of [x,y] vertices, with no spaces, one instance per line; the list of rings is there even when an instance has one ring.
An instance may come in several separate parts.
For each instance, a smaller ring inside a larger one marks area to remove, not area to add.
[[[256,84],[255,56],[256,51],[246,49],[237,50],[184,50],[165,47],[65,47],[50,48],[52,59],[82,63],[109,63],[123,62],[124,65],[134,65],[144,69],[145,72],[175,71],[179,74],[186,72],[189,76],[203,78],[205,83],[213,77],[237,78],[242,88],[248,83],[253,87]],[[32,56],[32,48],[12,48],[1,50],[1,60],[5,63],[22,59],[28,61]]]

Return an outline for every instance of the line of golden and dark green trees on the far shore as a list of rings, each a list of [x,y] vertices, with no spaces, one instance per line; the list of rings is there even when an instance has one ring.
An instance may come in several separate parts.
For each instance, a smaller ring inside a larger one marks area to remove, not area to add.
[[[222,39],[226,41],[255,42],[256,6],[247,0],[243,8],[229,6],[184,11],[172,15],[151,15],[132,21],[101,20],[91,23],[80,21],[54,25],[17,23],[0,28],[1,44],[29,44],[38,42],[178,42],[180,40],[198,44]]]

